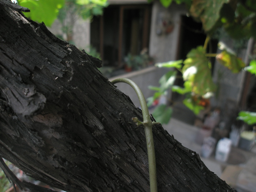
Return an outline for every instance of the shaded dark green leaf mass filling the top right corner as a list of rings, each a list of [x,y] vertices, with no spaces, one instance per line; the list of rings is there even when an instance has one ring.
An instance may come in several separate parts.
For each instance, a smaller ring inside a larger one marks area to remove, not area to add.
[[[193,0],[184,1],[194,19],[203,24],[206,33],[211,34],[224,27],[232,38],[256,38],[255,1],[243,0]],[[252,3],[253,2],[253,3]]]

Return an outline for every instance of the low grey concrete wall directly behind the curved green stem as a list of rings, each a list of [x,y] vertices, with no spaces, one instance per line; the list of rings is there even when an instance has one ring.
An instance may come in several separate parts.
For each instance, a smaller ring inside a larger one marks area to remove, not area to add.
[[[148,89],[148,86],[159,86],[159,79],[163,74],[165,74],[168,70],[166,68],[158,68],[158,67],[149,67],[146,69],[142,69],[140,71],[135,71],[131,73],[127,73],[120,76],[115,76],[113,78],[110,78],[109,80],[112,81],[117,78],[128,78],[131,79],[133,82],[135,82],[139,88],[142,90],[142,93],[144,94],[144,97],[147,99],[148,97],[151,97],[154,95],[155,91],[152,91]],[[138,96],[136,95],[135,91],[132,89],[131,86],[129,86],[126,83],[117,83],[116,84],[117,89],[122,91],[124,94],[128,95],[133,104],[136,107],[140,107],[140,102],[138,99]]]

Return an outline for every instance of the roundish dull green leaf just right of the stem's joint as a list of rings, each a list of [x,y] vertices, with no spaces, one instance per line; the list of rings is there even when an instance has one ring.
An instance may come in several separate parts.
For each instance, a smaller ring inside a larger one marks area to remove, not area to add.
[[[157,122],[160,122],[161,124],[168,124],[172,117],[172,112],[173,110],[171,107],[161,104],[155,108],[152,114]]]

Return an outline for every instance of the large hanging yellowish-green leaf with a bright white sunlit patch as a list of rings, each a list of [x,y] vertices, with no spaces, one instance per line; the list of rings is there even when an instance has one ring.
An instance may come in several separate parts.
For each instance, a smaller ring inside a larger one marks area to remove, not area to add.
[[[204,95],[216,89],[209,65],[203,46],[198,46],[187,54],[182,68],[183,79],[188,81],[187,86],[191,86],[195,94]]]

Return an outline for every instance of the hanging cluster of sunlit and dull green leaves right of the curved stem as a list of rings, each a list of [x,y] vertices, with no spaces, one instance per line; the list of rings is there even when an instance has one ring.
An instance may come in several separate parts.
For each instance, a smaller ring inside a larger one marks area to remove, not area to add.
[[[148,105],[151,106],[154,101],[161,96],[166,96],[167,91],[171,88],[172,91],[175,91],[180,94],[186,94],[186,99],[183,103],[195,114],[198,114],[200,110],[204,107],[200,105],[199,101],[193,98],[206,98],[206,95],[211,95],[215,91],[216,86],[211,78],[210,62],[206,57],[206,51],[203,46],[198,46],[196,49],[192,49],[187,54],[187,59],[183,62],[184,66],[182,67],[182,60],[179,61],[169,61],[165,63],[157,63],[158,67],[167,67],[167,68],[177,68],[181,70],[182,77],[184,82],[184,87],[174,86],[174,80],[176,79],[177,72],[169,71],[161,77],[159,80],[159,87],[150,86],[149,89],[156,91],[153,97],[147,99]],[[163,107],[165,106],[165,108]],[[171,116],[166,114],[172,114],[171,108],[166,105],[159,105],[153,112],[153,115],[157,115],[158,121],[161,123],[168,123]],[[164,113],[160,113],[159,110],[164,110]],[[166,111],[167,110],[167,111]],[[166,113],[166,114],[165,114]],[[163,117],[159,117],[162,115]],[[167,118],[168,117],[168,118]]]

